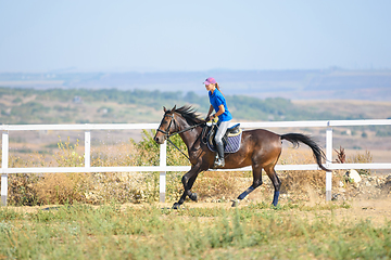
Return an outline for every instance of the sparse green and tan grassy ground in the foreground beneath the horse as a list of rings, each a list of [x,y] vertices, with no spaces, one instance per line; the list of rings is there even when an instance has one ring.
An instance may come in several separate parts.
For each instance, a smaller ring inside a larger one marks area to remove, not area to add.
[[[389,259],[391,200],[0,208],[1,259]]]

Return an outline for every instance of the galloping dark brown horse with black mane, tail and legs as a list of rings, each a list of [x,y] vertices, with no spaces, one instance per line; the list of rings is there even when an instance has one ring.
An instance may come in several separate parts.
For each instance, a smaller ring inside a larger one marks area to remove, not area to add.
[[[189,196],[191,200],[198,200],[197,193],[192,193],[191,188],[200,172],[213,169],[215,153],[202,141],[205,120],[200,118],[200,115],[197,114],[191,106],[185,105],[176,108],[175,105],[172,109],[163,107],[163,110],[164,116],[153,140],[157,144],[163,144],[164,141],[169,140],[169,136],[173,134],[179,134],[187,146],[187,157],[191,164],[191,169],[181,178],[185,190],[184,194],[173,206],[174,209],[178,209],[187,196]],[[298,147],[300,143],[310,146],[318,167],[321,170],[329,171],[321,165],[321,160],[326,159],[325,153],[318,144],[307,135],[301,133],[277,134],[264,129],[245,130],[242,132],[239,151],[230,154],[225,166],[222,168],[235,169],[252,166],[252,185],[234,200],[232,207],[238,206],[245,196],[262,185],[262,169],[265,170],[274,185],[275,192],[272,204],[277,206],[281,181],[278,179],[275,166],[281,155],[282,140],[291,142],[295,147]]]

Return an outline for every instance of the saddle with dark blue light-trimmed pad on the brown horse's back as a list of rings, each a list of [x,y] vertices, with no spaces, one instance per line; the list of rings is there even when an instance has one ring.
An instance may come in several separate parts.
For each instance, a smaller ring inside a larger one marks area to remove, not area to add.
[[[203,143],[206,143],[207,147],[212,152],[216,152],[216,142],[214,140],[218,125],[212,125],[205,127],[205,136],[202,139]],[[241,144],[242,130],[240,129],[240,123],[237,123],[227,129],[226,133],[223,136],[224,153],[236,153],[240,148]]]

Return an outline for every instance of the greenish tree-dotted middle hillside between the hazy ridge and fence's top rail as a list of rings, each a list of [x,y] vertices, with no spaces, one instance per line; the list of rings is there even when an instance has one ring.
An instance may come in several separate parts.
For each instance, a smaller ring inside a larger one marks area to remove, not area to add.
[[[391,117],[391,103],[290,101],[226,95],[236,120],[331,120]],[[117,89],[31,89],[0,87],[0,123],[156,122],[162,107],[192,105],[205,116],[210,103],[195,92]]]

